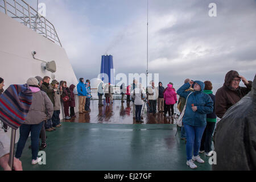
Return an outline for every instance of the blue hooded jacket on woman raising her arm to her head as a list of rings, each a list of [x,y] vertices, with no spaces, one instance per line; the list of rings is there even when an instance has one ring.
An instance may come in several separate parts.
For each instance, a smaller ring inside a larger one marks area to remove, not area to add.
[[[201,90],[193,92],[189,95],[189,97],[188,94],[191,93],[191,91],[185,91],[190,87],[189,83],[184,84],[177,90],[177,94],[179,94],[181,97],[188,97],[187,106],[182,121],[183,123],[191,126],[206,126],[207,114],[213,112],[213,101],[208,94],[203,92],[205,86],[204,83],[201,81],[194,82],[201,86]],[[197,106],[197,110],[195,112],[191,108],[192,104]]]

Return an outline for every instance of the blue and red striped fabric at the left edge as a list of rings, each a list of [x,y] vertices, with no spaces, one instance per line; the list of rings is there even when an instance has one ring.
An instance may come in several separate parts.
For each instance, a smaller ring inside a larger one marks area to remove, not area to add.
[[[0,96],[0,119],[13,129],[25,121],[32,102],[32,91],[27,84],[10,85]]]

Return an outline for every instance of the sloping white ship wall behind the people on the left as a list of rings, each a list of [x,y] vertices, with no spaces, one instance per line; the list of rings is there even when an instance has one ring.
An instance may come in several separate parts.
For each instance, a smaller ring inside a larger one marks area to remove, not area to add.
[[[68,86],[78,84],[64,48],[0,12],[0,77],[5,80],[4,89],[11,84],[24,84],[30,77],[51,78],[51,72],[41,71],[42,62],[33,59],[32,51],[36,51],[37,59],[56,62],[57,81],[65,80]],[[76,112],[78,104],[76,96]],[[63,117],[61,109],[60,118]]]

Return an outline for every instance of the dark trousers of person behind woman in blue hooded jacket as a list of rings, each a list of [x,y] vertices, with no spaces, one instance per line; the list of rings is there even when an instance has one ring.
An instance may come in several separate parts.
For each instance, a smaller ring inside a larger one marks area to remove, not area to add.
[[[212,151],[212,134],[215,128],[216,122],[207,122],[207,126],[204,130],[203,137],[201,139],[200,150],[205,152]]]

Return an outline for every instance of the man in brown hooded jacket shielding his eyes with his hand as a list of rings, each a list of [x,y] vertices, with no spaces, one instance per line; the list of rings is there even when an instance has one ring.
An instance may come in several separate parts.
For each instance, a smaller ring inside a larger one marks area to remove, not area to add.
[[[239,86],[240,81],[246,87]],[[252,81],[247,81],[245,77],[238,74],[237,71],[229,71],[225,76],[224,85],[217,90],[215,95],[215,112],[217,117],[222,118],[229,107],[236,104],[243,96],[251,90]]]

